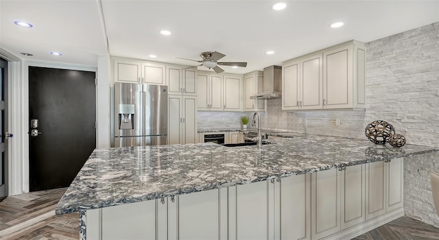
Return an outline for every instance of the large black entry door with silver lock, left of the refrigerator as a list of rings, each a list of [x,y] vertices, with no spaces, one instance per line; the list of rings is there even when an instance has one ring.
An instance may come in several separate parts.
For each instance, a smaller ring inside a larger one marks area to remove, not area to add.
[[[29,191],[71,184],[96,147],[95,121],[95,72],[29,67]]]

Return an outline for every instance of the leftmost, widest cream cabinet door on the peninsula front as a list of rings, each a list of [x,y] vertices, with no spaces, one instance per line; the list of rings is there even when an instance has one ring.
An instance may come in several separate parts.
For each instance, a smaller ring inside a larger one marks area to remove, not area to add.
[[[101,211],[102,239],[156,239],[156,200]]]

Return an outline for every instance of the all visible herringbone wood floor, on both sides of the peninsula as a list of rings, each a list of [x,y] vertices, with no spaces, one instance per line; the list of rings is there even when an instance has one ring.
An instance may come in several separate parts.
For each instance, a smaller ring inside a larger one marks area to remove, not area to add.
[[[66,189],[6,197],[0,202],[0,239],[79,239],[79,214],[55,215]],[[439,239],[439,228],[410,217],[400,217],[355,240]]]

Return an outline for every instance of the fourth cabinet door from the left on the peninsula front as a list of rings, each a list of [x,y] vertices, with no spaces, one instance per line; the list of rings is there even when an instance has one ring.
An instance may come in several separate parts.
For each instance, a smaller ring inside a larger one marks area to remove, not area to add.
[[[281,239],[311,239],[310,176],[281,178]]]

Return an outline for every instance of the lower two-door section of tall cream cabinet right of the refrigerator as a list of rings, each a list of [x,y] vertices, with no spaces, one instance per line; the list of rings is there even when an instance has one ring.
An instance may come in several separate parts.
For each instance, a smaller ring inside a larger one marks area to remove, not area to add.
[[[197,97],[168,96],[168,143],[197,143]]]

